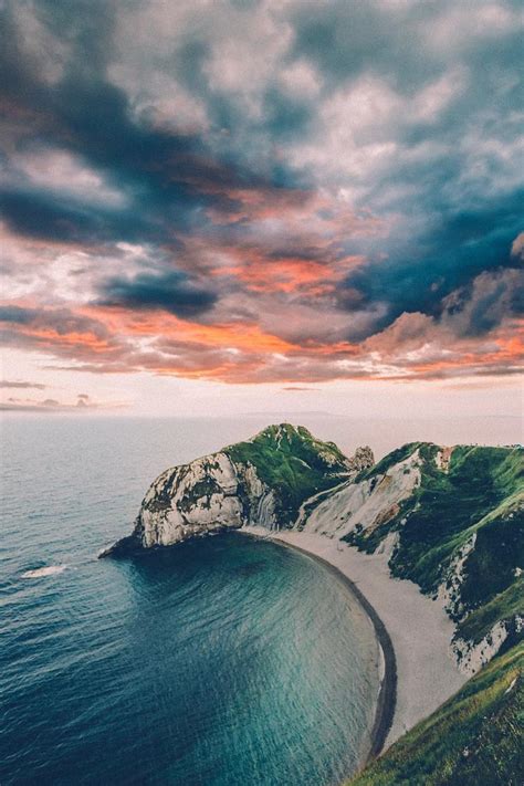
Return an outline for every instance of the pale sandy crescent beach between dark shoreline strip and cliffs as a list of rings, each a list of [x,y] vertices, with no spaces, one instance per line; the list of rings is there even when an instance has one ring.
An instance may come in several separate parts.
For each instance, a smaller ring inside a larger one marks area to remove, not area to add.
[[[385,747],[388,747],[465,682],[450,656],[453,623],[439,604],[423,596],[416,584],[391,578],[385,555],[363,554],[339,541],[302,532],[269,533],[262,527],[244,527],[242,532],[270,536],[337,568],[370,605],[371,609],[364,604],[366,611],[370,616],[375,611],[384,625],[387,637],[380,636],[380,628],[377,629],[371,616],[385,657],[388,638],[395,653],[394,659],[389,659],[389,669],[386,662],[385,682],[388,684],[379,696],[375,753],[381,747],[380,736],[385,736],[386,726],[389,731]],[[395,669],[396,680],[391,669]],[[391,695],[395,687],[396,695]]]

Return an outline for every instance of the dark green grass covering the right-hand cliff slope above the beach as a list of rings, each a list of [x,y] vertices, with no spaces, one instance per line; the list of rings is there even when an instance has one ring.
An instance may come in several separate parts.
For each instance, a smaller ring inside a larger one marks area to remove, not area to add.
[[[374,551],[388,532],[398,530],[399,545],[390,560],[392,574],[431,594],[453,556],[476,533],[475,547],[464,564],[461,600],[467,610],[474,610],[501,596],[491,607],[492,614],[476,617],[475,635],[481,628],[486,632],[485,626],[496,621],[499,612],[518,605],[515,594],[511,601],[502,596],[516,580],[515,569],[524,565],[524,451],[458,447],[448,472],[443,472],[437,467],[437,446],[411,443],[363,472],[358,480],[387,472],[417,449],[423,462],[420,486],[401,504],[400,512],[370,536],[364,531],[347,539]]]

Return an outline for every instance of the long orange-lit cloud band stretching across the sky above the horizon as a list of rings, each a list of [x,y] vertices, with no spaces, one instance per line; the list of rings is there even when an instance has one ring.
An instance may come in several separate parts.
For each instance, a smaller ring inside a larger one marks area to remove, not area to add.
[[[523,321],[503,323],[490,336],[453,339],[438,323],[413,315],[411,324],[401,319],[363,344],[290,340],[245,318],[203,324],[90,305],[73,312],[11,303],[3,322],[8,344],[54,356],[61,367],[232,384],[501,376],[517,374],[524,359]]]

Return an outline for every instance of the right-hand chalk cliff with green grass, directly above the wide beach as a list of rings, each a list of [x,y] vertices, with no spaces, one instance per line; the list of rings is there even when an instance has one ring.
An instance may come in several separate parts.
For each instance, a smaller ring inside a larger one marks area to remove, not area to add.
[[[475,673],[524,628],[524,451],[412,443],[327,492],[298,528],[382,553],[457,623]]]

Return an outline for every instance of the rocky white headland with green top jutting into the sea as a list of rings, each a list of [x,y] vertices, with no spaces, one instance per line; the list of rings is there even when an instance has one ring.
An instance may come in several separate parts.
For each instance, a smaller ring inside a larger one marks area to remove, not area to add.
[[[108,553],[169,546],[248,524],[292,526],[305,500],[373,463],[369,448],[348,459],[303,427],[270,426],[250,441],[166,470],[149,486],[133,534]]]

